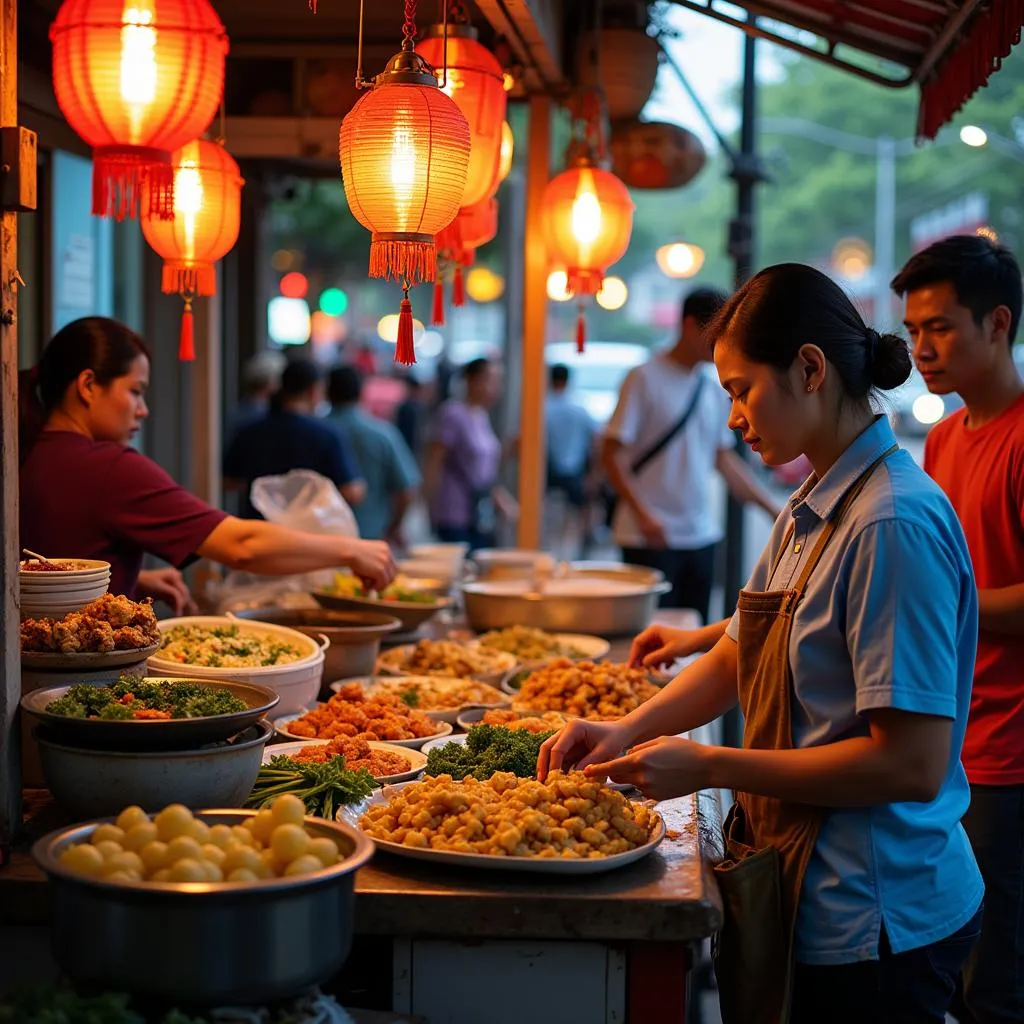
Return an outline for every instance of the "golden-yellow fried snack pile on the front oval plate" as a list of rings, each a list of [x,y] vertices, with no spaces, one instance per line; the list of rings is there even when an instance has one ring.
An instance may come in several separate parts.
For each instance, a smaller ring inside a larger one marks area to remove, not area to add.
[[[634,850],[649,842],[656,824],[644,804],[583,772],[560,771],[544,782],[510,772],[486,782],[427,776],[359,819],[371,839],[416,849],[565,860]]]

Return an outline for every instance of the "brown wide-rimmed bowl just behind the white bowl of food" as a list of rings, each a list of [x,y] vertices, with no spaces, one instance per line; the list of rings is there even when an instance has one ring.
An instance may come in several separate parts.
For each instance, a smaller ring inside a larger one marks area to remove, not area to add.
[[[377,664],[381,641],[401,629],[401,622],[383,611],[329,611],[321,608],[246,608],[228,612],[298,630],[314,640],[326,636],[331,646],[324,652],[324,679],[369,676]]]

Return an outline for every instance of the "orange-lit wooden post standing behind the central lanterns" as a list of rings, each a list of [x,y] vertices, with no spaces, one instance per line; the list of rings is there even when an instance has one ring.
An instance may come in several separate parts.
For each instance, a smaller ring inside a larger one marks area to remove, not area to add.
[[[529,99],[526,161],[526,236],[523,246],[522,404],[519,430],[519,547],[541,546],[544,511],[544,345],[548,317],[548,254],[544,246],[544,189],[551,175],[551,99]]]

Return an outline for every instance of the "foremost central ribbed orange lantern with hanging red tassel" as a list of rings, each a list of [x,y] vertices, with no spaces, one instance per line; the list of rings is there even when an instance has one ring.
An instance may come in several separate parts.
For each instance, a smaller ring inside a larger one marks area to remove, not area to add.
[[[459,212],[470,133],[415,51],[415,0],[406,0],[402,34],[401,51],[342,121],[339,151],[349,208],[373,232],[370,275],[402,283],[395,361],[409,365],[416,361],[409,289],[437,274],[434,236]],[[356,78],[356,85],[369,84]]]

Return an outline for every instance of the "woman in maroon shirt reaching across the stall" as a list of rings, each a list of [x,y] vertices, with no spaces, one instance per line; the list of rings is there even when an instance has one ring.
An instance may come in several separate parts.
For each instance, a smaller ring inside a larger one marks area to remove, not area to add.
[[[276,575],[347,565],[377,589],[394,577],[383,542],[238,519],[129,447],[148,415],[150,355],[123,324],[69,324],[22,378],[23,547],[109,561],[112,593],[163,600],[175,614],[191,603],[178,568],[196,557]],[[176,567],[141,571],[146,554]]]

